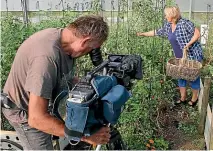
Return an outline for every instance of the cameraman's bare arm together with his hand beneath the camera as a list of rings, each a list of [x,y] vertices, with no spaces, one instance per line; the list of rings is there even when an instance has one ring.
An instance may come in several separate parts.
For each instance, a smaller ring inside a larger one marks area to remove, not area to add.
[[[28,124],[48,134],[64,137],[64,124],[48,112],[48,100],[30,93]],[[89,137],[82,137],[81,141],[90,144],[106,144],[110,139],[110,129],[101,128]]]

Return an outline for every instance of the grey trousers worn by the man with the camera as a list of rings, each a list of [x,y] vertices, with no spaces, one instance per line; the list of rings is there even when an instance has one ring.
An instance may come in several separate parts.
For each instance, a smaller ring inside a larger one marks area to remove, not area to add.
[[[26,122],[20,122],[20,111],[2,108],[4,116],[14,127],[24,150],[53,150],[51,135],[32,128]]]

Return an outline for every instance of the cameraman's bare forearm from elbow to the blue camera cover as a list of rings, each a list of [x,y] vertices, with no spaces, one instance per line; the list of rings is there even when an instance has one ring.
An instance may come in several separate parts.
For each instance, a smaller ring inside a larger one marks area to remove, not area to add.
[[[64,123],[48,113],[42,117],[34,117],[33,119],[28,120],[28,123],[31,127],[45,133],[64,137]]]

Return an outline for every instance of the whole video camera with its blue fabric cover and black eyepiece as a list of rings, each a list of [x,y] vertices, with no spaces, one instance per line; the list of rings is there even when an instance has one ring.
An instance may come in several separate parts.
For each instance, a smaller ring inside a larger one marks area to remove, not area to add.
[[[65,136],[70,141],[80,141],[103,125],[116,124],[123,105],[131,97],[132,80],[142,79],[139,55],[108,55],[103,60],[97,48],[90,58],[95,68],[65,93]]]

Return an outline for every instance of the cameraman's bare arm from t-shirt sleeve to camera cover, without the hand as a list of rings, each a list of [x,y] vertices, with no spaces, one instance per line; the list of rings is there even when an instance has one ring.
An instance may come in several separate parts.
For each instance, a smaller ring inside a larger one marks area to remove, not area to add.
[[[30,93],[28,124],[48,134],[64,137],[64,124],[48,113],[48,100]]]

